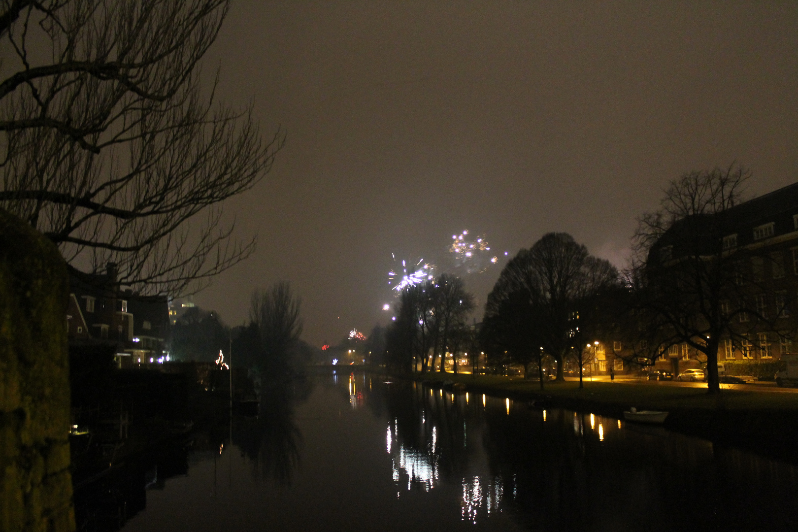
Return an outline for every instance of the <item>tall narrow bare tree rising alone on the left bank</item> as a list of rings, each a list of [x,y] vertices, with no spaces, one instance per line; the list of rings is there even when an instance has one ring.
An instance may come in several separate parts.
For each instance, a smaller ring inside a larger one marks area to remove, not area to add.
[[[261,368],[267,372],[284,372],[290,367],[290,355],[302,334],[301,306],[302,300],[294,296],[287,282],[252,293],[250,321],[257,326]]]

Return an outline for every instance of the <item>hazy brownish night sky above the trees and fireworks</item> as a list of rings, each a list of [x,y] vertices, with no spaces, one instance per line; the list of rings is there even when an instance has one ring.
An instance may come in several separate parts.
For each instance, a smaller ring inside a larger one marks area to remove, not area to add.
[[[225,204],[257,251],[194,301],[239,325],[290,281],[314,345],[389,322],[392,252],[440,273],[464,229],[502,258],[567,231],[623,266],[685,171],[798,180],[796,2],[239,0],[217,66],[219,99],[287,144]],[[503,262],[465,277],[478,320]]]

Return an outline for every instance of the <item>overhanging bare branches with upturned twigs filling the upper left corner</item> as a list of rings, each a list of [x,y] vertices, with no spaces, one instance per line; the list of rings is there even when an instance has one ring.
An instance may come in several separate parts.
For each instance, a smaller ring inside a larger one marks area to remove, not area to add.
[[[73,273],[113,262],[120,285],[180,295],[251,254],[220,205],[263,178],[284,137],[264,142],[251,108],[201,87],[227,6],[0,0],[0,207]]]

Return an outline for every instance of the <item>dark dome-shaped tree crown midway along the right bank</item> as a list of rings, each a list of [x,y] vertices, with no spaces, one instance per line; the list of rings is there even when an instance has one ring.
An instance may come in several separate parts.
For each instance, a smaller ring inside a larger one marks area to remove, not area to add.
[[[570,234],[549,233],[520,250],[502,270],[488,295],[480,342],[494,361],[531,363],[543,387],[543,357],[555,360],[557,379],[574,357],[579,384],[586,339],[595,335],[600,313],[591,312],[606,294],[618,290],[618,270],[595,258]]]

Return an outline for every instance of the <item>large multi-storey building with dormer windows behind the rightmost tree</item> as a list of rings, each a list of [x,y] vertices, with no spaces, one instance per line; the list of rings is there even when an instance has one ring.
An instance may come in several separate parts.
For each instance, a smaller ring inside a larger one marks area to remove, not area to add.
[[[739,260],[741,291],[755,302],[757,313],[768,318],[757,320],[742,313],[734,330],[743,340],[722,339],[718,363],[777,361],[784,354],[796,353],[790,335],[785,333],[796,333],[798,312],[798,183],[718,215],[705,215],[689,222],[693,224],[692,231],[701,227],[698,238],[685,238],[684,226],[676,223],[651,252],[663,262],[678,262],[685,254],[709,255],[718,249],[732,254],[744,250]],[[694,249],[696,246],[698,250]],[[612,369],[617,374],[639,368],[630,364],[634,361],[630,342],[618,336],[599,338],[592,348],[595,357],[591,368],[596,373],[608,374]],[[662,350],[656,364],[677,373],[703,367],[701,356],[688,344],[670,345]]]

